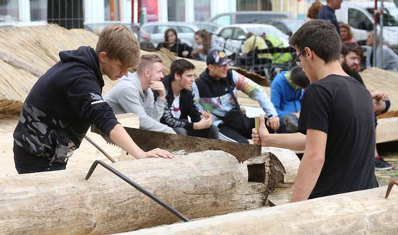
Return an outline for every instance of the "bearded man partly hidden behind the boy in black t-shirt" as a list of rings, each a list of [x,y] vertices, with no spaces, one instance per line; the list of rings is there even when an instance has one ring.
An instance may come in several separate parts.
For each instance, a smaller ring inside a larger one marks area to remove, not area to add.
[[[361,84],[364,84],[361,76],[358,73],[358,65],[360,64],[362,57],[362,49],[356,43],[343,43],[340,53],[340,64],[344,72],[349,76],[357,79]],[[390,108],[390,100],[388,95],[381,91],[370,91],[375,107],[375,126],[377,127],[376,116],[382,113],[386,113]],[[376,130],[375,130],[376,131]],[[377,170],[389,170],[394,168],[394,165],[385,161],[380,157],[375,146],[375,169]]]

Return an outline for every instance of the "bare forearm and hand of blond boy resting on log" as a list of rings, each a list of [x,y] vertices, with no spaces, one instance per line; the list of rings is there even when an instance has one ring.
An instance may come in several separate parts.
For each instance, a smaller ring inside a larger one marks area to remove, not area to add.
[[[124,130],[123,126],[120,124],[117,124],[113,127],[113,129],[109,133],[109,137],[113,141],[113,143],[115,143],[117,146],[119,146],[137,159],[148,157],[174,157],[170,152],[159,148],[144,152],[134,143],[131,137],[127,134],[126,130]]]

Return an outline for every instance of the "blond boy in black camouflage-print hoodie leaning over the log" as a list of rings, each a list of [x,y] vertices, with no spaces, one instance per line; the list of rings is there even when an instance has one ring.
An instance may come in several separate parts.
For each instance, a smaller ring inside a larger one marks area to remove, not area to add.
[[[134,157],[172,157],[160,149],[142,151],[102,100],[102,75],[121,78],[138,55],[138,42],[123,24],[103,29],[96,50],[60,52],[60,62],[37,80],[23,103],[13,134],[18,173],[65,169],[93,123]]]

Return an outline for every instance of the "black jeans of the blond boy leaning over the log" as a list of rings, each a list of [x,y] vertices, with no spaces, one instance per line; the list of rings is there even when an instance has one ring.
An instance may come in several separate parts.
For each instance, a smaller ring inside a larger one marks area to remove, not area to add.
[[[18,174],[37,173],[43,171],[66,169],[66,164],[59,164],[53,162],[50,165],[50,160],[44,157],[34,156],[23,151],[18,146],[16,146],[15,142],[14,142],[14,148],[12,150],[14,152],[15,169],[18,172]]]

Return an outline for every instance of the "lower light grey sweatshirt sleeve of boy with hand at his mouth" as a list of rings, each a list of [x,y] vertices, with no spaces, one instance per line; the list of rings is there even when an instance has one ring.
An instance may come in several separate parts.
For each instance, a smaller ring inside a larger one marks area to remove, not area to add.
[[[125,112],[139,116],[140,128],[151,131],[172,133],[173,129],[149,116],[140,102],[139,91],[135,87],[125,87],[120,90],[117,101]],[[153,104],[152,96],[152,104]],[[153,108],[147,110],[152,111]],[[162,110],[163,111],[163,110]],[[163,114],[163,113],[162,113]],[[160,118],[159,118],[160,120]]]

